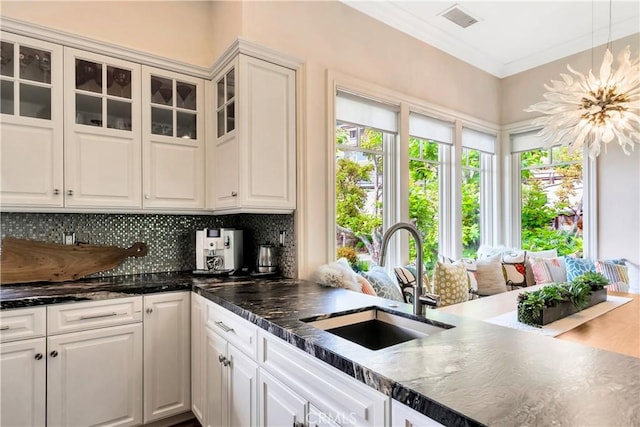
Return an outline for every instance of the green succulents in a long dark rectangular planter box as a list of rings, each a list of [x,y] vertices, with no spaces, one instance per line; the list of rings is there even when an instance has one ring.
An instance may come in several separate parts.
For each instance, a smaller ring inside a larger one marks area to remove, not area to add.
[[[543,326],[607,300],[607,279],[585,273],[569,283],[555,283],[518,295],[518,321]]]

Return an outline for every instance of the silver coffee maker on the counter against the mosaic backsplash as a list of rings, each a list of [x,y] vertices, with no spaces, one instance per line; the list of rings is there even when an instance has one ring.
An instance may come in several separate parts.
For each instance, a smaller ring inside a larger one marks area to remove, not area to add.
[[[242,268],[242,230],[205,228],[196,230],[194,273],[233,274]]]

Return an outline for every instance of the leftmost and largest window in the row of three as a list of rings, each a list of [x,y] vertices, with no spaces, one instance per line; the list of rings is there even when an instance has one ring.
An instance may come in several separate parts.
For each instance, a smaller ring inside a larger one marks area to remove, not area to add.
[[[378,264],[383,225],[394,221],[397,112],[339,92],[336,98],[336,257],[356,269]]]

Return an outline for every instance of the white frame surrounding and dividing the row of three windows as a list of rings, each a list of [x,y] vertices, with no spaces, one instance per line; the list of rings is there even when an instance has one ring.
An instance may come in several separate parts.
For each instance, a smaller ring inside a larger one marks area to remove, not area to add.
[[[385,200],[385,217],[383,219],[383,232],[398,221],[408,221],[408,147],[409,147],[409,114],[417,112],[429,117],[440,120],[450,121],[454,123],[454,145],[450,153],[445,155],[443,161],[449,166],[449,173],[442,174],[443,185],[450,192],[448,203],[443,206],[440,219],[442,231],[439,232],[441,243],[439,250],[442,255],[459,258],[462,252],[461,224],[460,218],[460,183],[461,183],[461,167],[459,165],[461,145],[462,127],[468,127],[481,132],[498,135],[500,126],[479,120],[475,117],[459,113],[436,104],[426,102],[422,99],[414,98],[399,92],[375,85],[373,83],[364,82],[353,76],[327,71],[327,260],[330,262],[335,259],[335,126],[336,126],[336,105],[335,99],[338,91],[358,94],[363,98],[369,98],[374,101],[383,102],[389,105],[397,105],[399,107],[398,114],[398,133],[397,143],[392,145],[390,151],[390,161],[388,170],[395,168],[395,176],[393,181],[385,182],[385,191],[391,194],[385,194],[389,199]],[[491,167],[491,179],[489,187],[491,188],[492,197],[490,201],[482,201],[487,203],[484,208],[487,213],[483,218],[490,222],[492,241],[487,244],[495,244],[499,241],[500,233],[497,224],[499,223],[499,206],[501,206],[500,188],[500,171],[497,168],[497,158],[500,150],[500,138],[496,137],[495,143],[496,154],[493,156]],[[448,157],[448,158],[446,158]],[[407,166],[404,166],[407,165]],[[441,200],[445,200],[446,195],[440,195]],[[481,202],[481,203],[482,203]],[[482,206],[482,205],[481,205]],[[482,216],[482,214],[481,214]],[[493,221],[491,221],[493,218]],[[387,252],[386,266],[403,265],[408,261],[408,233],[397,233],[393,241],[390,243]]]

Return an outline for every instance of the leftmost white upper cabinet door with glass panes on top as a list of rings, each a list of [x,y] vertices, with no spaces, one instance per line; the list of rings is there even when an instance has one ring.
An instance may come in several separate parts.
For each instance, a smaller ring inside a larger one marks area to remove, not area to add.
[[[62,47],[1,35],[0,204],[62,207]]]

